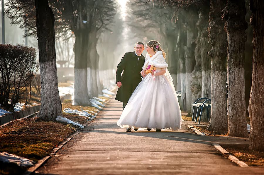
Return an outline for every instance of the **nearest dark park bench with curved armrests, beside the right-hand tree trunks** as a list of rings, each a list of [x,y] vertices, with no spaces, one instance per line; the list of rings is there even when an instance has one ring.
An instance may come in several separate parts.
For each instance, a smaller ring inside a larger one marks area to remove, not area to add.
[[[194,115],[196,113],[196,116],[195,116],[195,123],[196,123],[197,122],[197,117],[200,114],[199,121],[198,121],[198,124],[200,124],[200,121],[201,121],[201,118],[202,118],[202,112],[204,111],[204,109],[206,109],[208,121],[210,120],[210,118],[209,118],[209,108],[211,108],[212,104],[210,104],[209,102],[211,102],[211,99],[199,98],[199,99],[197,99],[194,102],[194,104],[192,104],[192,121],[194,121]]]

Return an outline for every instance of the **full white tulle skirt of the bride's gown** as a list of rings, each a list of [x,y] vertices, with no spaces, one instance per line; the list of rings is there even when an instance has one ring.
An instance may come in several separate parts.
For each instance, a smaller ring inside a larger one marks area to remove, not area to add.
[[[153,80],[148,74],[131,95],[117,125],[121,128],[180,129],[180,105],[175,88],[167,77],[156,76]]]

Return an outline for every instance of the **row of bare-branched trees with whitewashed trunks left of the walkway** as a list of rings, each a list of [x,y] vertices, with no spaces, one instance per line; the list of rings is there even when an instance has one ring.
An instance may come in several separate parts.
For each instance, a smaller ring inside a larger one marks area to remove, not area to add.
[[[100,34],[109,30],[107,27],[116,13],[116,2],[11,0],[6,7],[5,12],[12,22],[26,28],[26,36],[37,34],[42,91],[38,116],[54,120],[62,115],[54,37],[64,40],[75,37],[74,102],[89,105],[90,97],[97,97],[103,88],[99,81],[96,46]]]

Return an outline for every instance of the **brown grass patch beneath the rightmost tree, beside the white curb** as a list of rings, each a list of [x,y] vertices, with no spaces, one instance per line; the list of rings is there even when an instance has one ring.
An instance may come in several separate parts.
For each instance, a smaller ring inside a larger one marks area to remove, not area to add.
[[[228,146],[225,149],[249,166],[264,166],[264,152],[251,151],[248,146]]]

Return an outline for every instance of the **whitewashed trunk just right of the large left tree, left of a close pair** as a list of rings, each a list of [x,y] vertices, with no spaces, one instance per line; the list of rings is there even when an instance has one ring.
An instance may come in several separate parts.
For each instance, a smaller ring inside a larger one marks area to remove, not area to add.
[[[74,105],[90,105],[87,90],[87,52],[86,32],[75,32],[75,67],[74,67]]]

